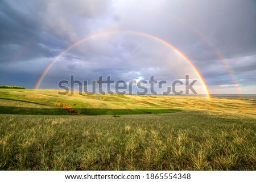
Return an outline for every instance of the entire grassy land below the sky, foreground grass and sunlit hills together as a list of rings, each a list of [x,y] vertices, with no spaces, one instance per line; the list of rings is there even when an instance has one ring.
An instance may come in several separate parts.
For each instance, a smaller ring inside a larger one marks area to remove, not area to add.
[[[0,89],[0,169],[256,170],[255,104]]]

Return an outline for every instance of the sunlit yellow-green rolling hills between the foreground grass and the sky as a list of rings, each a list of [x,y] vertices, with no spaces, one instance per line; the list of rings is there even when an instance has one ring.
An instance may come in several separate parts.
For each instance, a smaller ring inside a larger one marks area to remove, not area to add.
[[[0,114],[135,115],[179,111],[255,113],[254,100],[200,96],[57,94],[59,90],[0,89]]]

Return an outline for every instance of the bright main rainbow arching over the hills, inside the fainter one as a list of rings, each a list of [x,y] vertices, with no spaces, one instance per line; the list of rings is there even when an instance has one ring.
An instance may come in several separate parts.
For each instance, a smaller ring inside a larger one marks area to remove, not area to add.
[[[53,64],[55,64],[55,62],[61,57],[63,56],[63,54],[65,54],[68,50],[72,49],[74,46],[81,44],[82,42],[92,39],[94,37],[98,37],[98,36],[103,36],[103,35],[111,35],[111,34],[115,34],[115,33],[131,33],[131,34],[135,34],[135,35],[141,35],[141,36],[146,36],[146,37],[150,37],[151,39],[157,40],[169,47],[171,47],[172,49],[175,50],[175,52],[179,53],[188,63],[189,65],[191,65],[191,67],[193,68],[193,70],[196,72],[197,76],[199,77],[200,81],[203,83],[204,85],[204,91],[207,94],[208,98],[210,98],[210,94],[209,94],[209,90],[207,87],[207,84],[205,83],[205,80],[203,78],[203,76],[201,75],[200,71],[196,68],[196,66],[191,62],[191,60],[189,60],[189,58],[187,56],[185,56],[184,53],[182,53],[179,49],[177,49],[174,45],[168,43],[167,41],[160,39],[159,37],[156,37],[154,35],[150,35],[149,33],[142,33],[142,32],[135,32],[135,31],[109,31],[109,32],[103,32],[103,33],[98,33],[98,34],[94,34],[94,35],[90,35],[87,37],[84,37],[83,39],[76,41],[74,44],[72,44],[71,46],[69,46],[68,48],[64,49],[63,52],[61,52],[58,56],[56,56],[51,63],[47,66],[47,68],[43,71],[42,75],[40,76],[40,78],[38,79],[38,82],[36,82],[35,85],[35,89],[38,89],[40,84],[42,83],[44,77],[46,76],[47,72],[49,71],[49,69],[51,69],[51,67],[53,66]]]

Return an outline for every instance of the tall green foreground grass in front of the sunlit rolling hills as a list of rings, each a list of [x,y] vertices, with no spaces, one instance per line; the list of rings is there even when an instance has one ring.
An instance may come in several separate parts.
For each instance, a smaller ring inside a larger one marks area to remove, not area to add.
[[[256,170],[256,120],[1,115],[1,170]]]

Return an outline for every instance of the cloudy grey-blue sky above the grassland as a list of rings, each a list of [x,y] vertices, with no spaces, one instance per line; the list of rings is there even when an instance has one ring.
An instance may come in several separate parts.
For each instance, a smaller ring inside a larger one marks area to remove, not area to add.
[[[256,1],[0,1],[0,55],[0,85],[35,88],[56,60],[40,89],[187,74],[205,94],[201,74],[210,94],[256,94]]]

